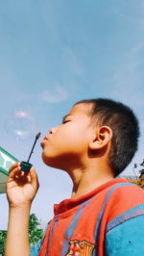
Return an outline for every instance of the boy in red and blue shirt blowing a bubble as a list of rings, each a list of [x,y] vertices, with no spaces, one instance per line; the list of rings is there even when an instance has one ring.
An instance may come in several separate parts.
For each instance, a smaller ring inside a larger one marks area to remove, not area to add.
[[[143,255],[144,192],[114,179],[132,161],[138,136],[127,106],[103,98],[76,103],[41,142],[43,162],[71,177],[71,198],[55,205],[43,240],[30,252],[28,222],[38,182],[34,167],[23,174],[14,164],[5,256]]]

